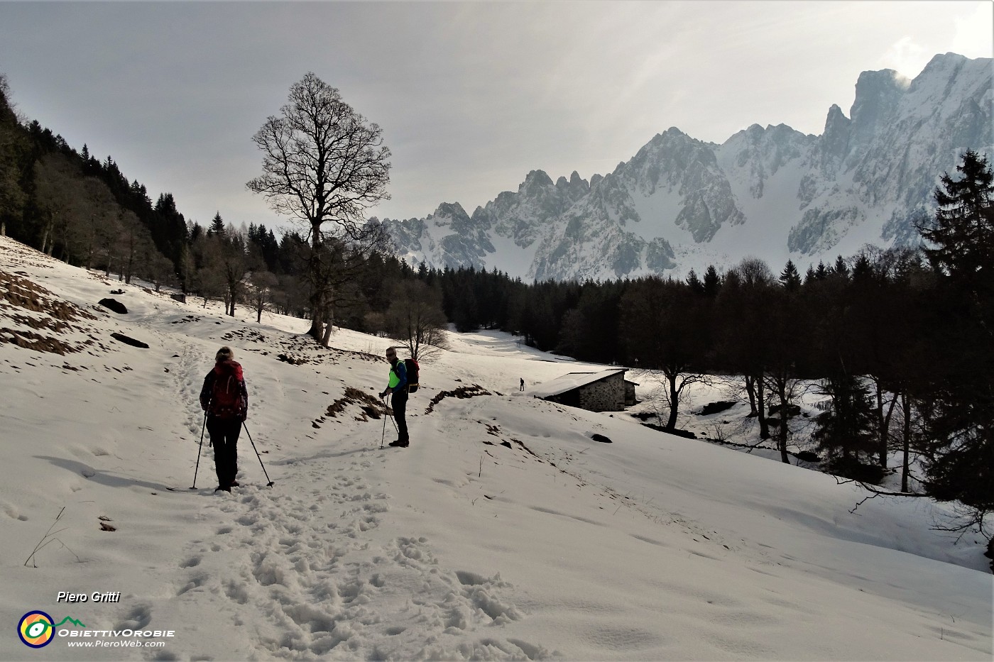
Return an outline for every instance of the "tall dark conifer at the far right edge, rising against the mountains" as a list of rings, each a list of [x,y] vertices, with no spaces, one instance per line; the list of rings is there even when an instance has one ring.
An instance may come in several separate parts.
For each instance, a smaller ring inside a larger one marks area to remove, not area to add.
[[[958,181],[935,189],[934,222],[919,228],[941,274],[934,291],[929,435],[937,444],[926,489],[983,522],[994,512],[994,205],[986,157],[963,154]]]

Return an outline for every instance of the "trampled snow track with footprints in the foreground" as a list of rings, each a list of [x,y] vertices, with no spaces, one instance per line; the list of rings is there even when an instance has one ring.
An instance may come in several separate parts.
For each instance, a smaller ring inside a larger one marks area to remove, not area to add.
[[[281,465],[299,469],[292,493],[277,484],[207,497],[199,517],[232,524],[185,549],[174,580],[183,612],[250,620],[247,656],[548,657],[541,645],[492,635],[466,643],[467,634],[524,613],[499,575],[446,569],[427,538],[380,531],[392,499],[367,476],[391,461],[404,458],[396,449],[360,450],[344,462],[311,457]]]

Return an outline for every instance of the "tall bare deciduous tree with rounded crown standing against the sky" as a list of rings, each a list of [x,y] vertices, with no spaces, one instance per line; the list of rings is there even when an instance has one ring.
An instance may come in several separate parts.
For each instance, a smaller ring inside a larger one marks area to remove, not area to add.
[[[312,280],[310,335],[327,344],[333,285],[322,244],[383,244],[379,224],[366,223],[367,209],[386,200],[390,149],[383,131],[346,103],[338,89],[313,73],[290,86],[279,115],[269,116],[252,136],[262,151],[262,175],[248,182],[277,214],[306,224]]]

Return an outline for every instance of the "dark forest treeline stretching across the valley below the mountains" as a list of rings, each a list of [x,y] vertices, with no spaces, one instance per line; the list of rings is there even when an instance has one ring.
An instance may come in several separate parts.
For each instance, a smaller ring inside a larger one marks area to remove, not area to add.
[[[169,193],[153,203],[110,156],[19,120],[8,98],[0,77],[0,234],[50,255],[221,299],[230,314],[246,305],[308,317],[318,301],[329,331],[334,320],[401,338],[414,354],[443,345],[451,323],[658,371],[674,431],[691,385],[736,376],[784,461],[791,413],[817,383],[826,398],[813,435],[831,470],[878,482],[897,450],[903,492],[913,456],[925,472],[915,484],[964,504],[968,524],[994,509],[994,189],[971,151],[957,177],[942,176],[921,248],[865,248],[803,272],[747,257],[685,279],[526,283],[496,269],[415,267],[382,243],[357,250],[328,237],[315,248],[295,231],[236,228],[220,211],[203,227]]]

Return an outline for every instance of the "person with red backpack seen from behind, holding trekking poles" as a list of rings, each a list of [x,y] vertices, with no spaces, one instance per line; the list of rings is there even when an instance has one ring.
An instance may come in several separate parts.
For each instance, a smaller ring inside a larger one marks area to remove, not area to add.
[[[211,434],[218,472],[215,492],[231,492],[239,486],[235,481],[239,472],[239,432],[248,417],[248,390],[242,366],[234,358],[230,347],[218,350],[217,363],[204,378],[204,388],[200,391],[200,406],[207,412],[207,431]]]

